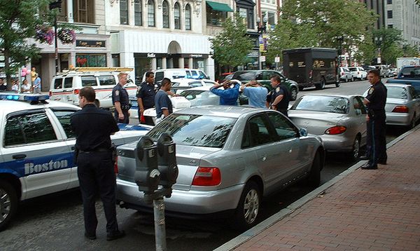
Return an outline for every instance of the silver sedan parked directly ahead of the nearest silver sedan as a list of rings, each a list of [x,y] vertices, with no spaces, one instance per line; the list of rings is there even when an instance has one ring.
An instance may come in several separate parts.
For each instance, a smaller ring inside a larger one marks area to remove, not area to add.
[[[366,144],[366,114],[360,95],[304,95],[288,111],[296,126],[321,137],[326,151],[349,152],[353,160]]]

